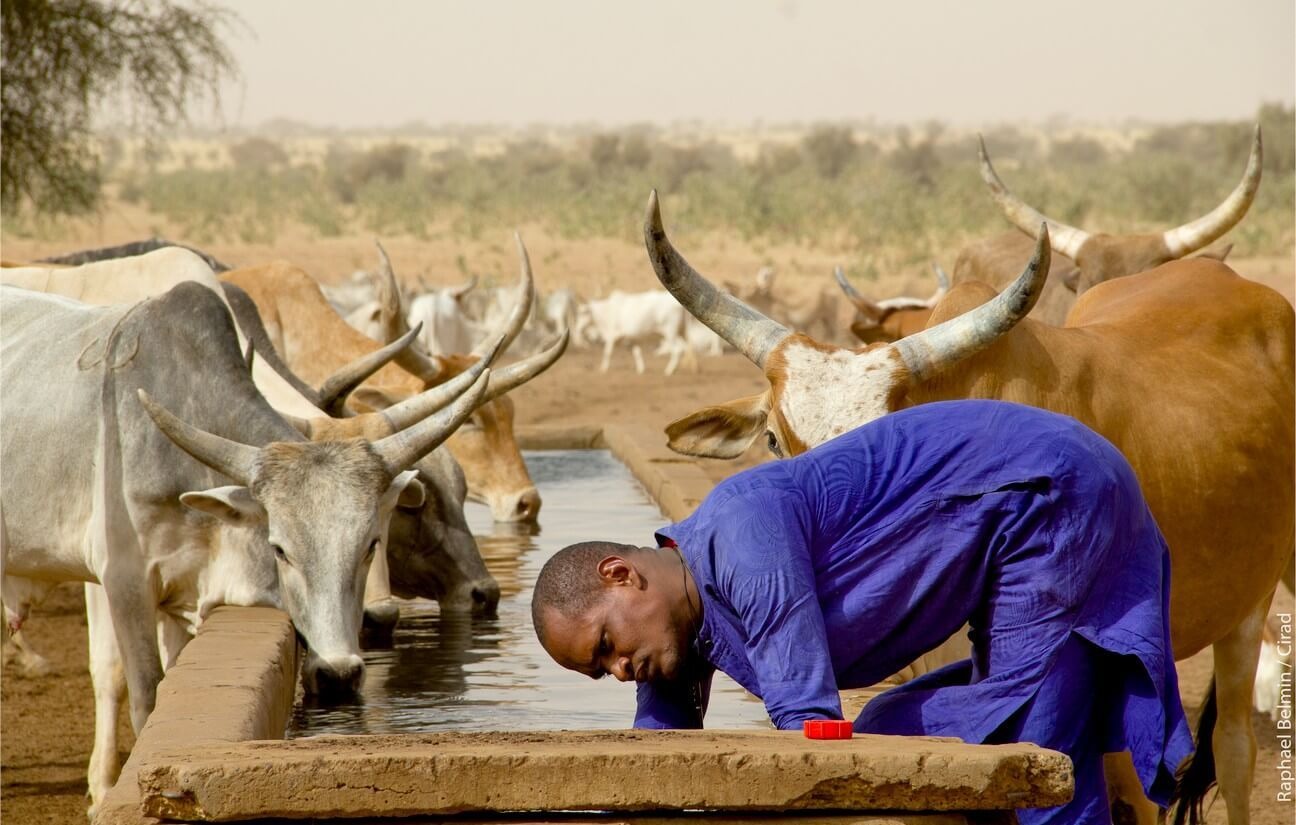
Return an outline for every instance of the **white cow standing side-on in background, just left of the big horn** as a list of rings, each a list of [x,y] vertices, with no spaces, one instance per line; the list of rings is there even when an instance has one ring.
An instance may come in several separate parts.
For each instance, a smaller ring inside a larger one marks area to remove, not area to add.
[[[591,300],[581,308],[584,321],[578,326],[603,342],[603,363],[599,369],[608,372],[612,351],[618,343],[629,343],[635,357],[635,372],[644,373],[643,343],[658,341],[662,352],[670,355],[666,374],[671,376],[687,355],[693,367],[697,355],[687,337],[688,312],[664,290],[647,293],[613,291],[607,298]]]

